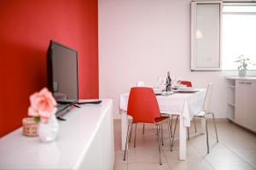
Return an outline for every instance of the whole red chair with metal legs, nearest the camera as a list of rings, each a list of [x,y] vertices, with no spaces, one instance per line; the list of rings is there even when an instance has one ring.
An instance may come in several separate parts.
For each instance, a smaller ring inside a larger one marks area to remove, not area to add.
[[[161,132],[161,139],[160,133],[158,135],[158,148],[160,153],[160,140],[163,140],[163,133],[162,133],[162,123],[168,121],[169,122],[169,140],[171,146],[171,129],[170,129],[170,121],[169,116],[161,116],[159,105],[154,95],[154,91],[152,88],[131,88],[129,100],[128,100],[128,108],[127,114],[132,116],[132,122],[128,125],[127,136],[126,136],[126,143],[125,143],[125,155],[127,149],[127,140],[129,138],[129,129],[131,124],[133,123],[152,123],[160,129]],[[136,141],[136,128],[135,127],[135,141]],[[135,145],[135,144],[134,144]],[[124,155],[124,161],[125,161]],[[161,156],[160,156],[160,165]]]

